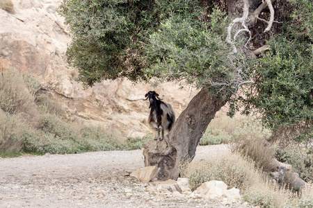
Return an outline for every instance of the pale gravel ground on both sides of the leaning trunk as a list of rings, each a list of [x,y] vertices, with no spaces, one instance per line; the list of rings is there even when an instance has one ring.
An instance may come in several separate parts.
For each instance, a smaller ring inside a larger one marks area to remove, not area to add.
[[[195,159],[221,153],[198,146]],[[143,166],[142,150],[0,159],[0,207],[250,207],[151,193],[127,174]]]

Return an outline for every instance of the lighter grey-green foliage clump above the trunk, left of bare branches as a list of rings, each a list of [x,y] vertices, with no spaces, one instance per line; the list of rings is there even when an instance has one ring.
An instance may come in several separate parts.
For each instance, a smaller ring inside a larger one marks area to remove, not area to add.
[[[210,87],[214,94],[228,99],[238,89],[236,82],[248,80],[250,67],[241,53],[230,58],[225,13],[214,9],[208,16],[207,22],[185,14],[161,22],[147,44],[150,67],[145,73],[165,80],[184,78],[189,84]]]

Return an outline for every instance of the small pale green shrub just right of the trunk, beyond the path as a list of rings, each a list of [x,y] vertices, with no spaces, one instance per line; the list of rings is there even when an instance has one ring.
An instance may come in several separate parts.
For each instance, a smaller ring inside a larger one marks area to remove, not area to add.
[[[199,141],[200,145],[227,144],[231,140],[230,135],[222,129],[207,128]]]

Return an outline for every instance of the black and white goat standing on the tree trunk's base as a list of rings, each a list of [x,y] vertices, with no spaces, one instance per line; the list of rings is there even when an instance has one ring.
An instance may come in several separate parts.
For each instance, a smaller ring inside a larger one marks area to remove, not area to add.
[[[148,118],[148,123],[155,130],[154,140],[164,139],[164,130],[168,132],[172,129],[172,125],[175,122],[175,113],[172,110],[172,106],[168,103],[164,103],[159,98],[159,94],[154,91],[149,91],[145,94],[145,100],[149,98],[151,108],[150,115]],[[160,138],[160,132],[162,132],[162,137]]]

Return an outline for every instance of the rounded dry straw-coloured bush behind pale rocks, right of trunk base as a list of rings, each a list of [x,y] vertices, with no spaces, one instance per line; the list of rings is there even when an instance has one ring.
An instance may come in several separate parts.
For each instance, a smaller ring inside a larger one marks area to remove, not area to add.
[[[184,164],[181,167],[181,175],[188,177],[193,190],[210,180],[221,180],[229,188],[246,190],[260,177],[252,162],[237,154],[222,155],[209,161]]]

